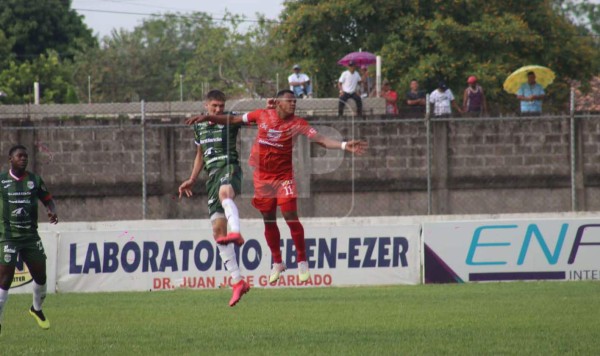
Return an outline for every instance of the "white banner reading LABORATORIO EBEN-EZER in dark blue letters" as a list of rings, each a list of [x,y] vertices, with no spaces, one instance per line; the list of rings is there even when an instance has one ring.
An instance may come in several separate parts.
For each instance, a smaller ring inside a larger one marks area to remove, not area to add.
[[[281,250],[288,270],[275,286],[417,284],[419,225],[306,227],[311,278],[301,283],[287,226]],[[271,255],[263,231],[243,231],[236,247],[242,275],[267,287]],[[231,284],[210,230],[88,231],[61,233],[57,289],[61,292],[221,288]]]

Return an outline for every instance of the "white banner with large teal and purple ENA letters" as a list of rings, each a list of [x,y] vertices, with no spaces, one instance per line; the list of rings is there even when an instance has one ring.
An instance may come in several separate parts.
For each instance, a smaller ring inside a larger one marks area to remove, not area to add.
[[[426,223],[425,283],[599,280],[600,220]]]

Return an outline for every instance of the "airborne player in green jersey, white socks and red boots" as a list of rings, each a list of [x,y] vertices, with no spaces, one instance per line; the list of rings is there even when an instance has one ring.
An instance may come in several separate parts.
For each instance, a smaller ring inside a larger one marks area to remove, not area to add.
[[[211,90],[206,95],[205,108],[211,115],[223,114],[225,94]],[[250,285],[242,278],[236,261],[234,244],[242,245],[240,218],[233,199],[241,192],[242,170],[236,148],[239,125],[225,126],[210,122],[194,125],[194,138],[197,146],[196,158],[190,178],[179,186],[179,197],[192,196],[192,187],[204,168],[208,174],[208,212],[212,222],[213,237],[225,269],[233,282],[233,295],[229,306],[234,306],[250,290]],[[227,223],[230,232],[227,233]]]

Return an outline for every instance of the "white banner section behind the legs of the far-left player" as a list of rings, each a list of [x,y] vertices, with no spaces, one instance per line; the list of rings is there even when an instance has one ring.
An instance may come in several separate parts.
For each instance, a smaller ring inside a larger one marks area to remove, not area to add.
[[[56,292],[56,255],[58,250],[58,233],[39,231],[42,245],[46,252],[46,285],[48,293]],[[10,287],[10,293],[32,293],[33,278],[21,258],[17,259],[15,277]]]

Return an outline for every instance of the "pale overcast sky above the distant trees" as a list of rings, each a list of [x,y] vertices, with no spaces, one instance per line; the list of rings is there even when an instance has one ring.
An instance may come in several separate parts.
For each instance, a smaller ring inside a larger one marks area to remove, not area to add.
[[[219,18],[228,10],[249,20],[256,19],[256,13],[277,19],[283,0],[72,0],[71,6],[84,16],[95,35],[103,37],[114,28],[132,30],[156,13],[202,11]]]

